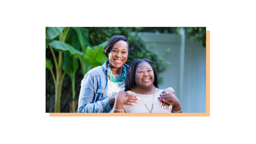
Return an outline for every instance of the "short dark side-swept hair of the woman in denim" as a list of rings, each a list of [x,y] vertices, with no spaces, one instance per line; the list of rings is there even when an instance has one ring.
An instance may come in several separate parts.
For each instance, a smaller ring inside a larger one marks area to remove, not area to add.
[[[128,45],[128,53],[129,53],[130,49],[129,49],[129,43],[128,43],[127,38],[125,36],[112,36],[108,40],[107,45],[103,49],[103,53],[106,55],[106,57],[108,57],[108,54],[111,52],[111,50],[113,48],[113,45],[115,43],[117,43],[118,41],[120,41],[120,40],[123,40],[123,41],[125,41],[127,43],[127,45]]]

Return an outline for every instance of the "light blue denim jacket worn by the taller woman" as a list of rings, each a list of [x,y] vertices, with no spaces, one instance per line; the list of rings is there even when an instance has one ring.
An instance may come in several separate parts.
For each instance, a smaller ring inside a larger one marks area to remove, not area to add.
[[[108,73],[107,60],[102,66],[91,69],[81,82],[78,112],[108,112],[111,107],[107,97]],[[128,69],[128,66],[124,64]]]

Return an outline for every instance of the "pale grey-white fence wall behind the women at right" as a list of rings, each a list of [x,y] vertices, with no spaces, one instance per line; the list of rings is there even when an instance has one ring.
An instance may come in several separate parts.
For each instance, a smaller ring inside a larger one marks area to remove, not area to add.
[[[158,55],[164,56],[171,48],[166,60],[171,62],[164,73],[164,83],[159,88],[173,87],[180,100],[183,112],[206,112],[206,48],[185,34],[139,33],[146,41],[146,47],[155,43],[153,48]]]

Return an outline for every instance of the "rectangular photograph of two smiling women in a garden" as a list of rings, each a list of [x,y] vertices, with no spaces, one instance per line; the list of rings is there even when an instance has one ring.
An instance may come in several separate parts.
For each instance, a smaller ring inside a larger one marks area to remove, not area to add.
[[[206,39],[206,27],[46,27],[46,113],[206,113]]]

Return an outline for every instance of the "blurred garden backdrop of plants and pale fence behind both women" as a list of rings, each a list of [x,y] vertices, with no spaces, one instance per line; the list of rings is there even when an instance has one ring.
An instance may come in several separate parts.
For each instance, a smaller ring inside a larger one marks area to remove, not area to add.
[[[128,66],[150,59],[159,88],[173,87],[183,112],[206,112],[206,27],[46,27],[47,113],[77,112],[81,80],[108,60],[114,35],[128,39]]]

